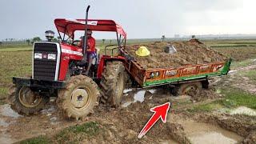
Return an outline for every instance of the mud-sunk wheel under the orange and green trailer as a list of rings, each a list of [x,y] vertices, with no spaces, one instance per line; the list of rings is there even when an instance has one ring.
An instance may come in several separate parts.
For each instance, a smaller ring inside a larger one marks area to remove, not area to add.
[[[178,86],[176,95],[197,96],[202,90],[202,82],[183,83]]]

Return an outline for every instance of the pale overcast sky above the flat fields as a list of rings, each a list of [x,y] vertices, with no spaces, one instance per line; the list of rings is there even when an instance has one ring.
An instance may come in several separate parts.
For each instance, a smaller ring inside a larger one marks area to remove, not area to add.
[[[0,0],[0,39],[44,37],[54,18],[114,19],[128,38],[256,34],[254,0]],[[96,34],[97,38],[109,37]]]

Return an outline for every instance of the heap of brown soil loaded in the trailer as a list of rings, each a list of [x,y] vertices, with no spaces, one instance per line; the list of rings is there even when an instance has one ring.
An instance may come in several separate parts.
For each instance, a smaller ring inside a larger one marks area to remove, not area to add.
[[[226,59],[224,55],[219,54],[217,51],[196,42],[154,42],[143,46],[150,50],[150,56],[139,57],[136,55],[135,51],[138,50],[139,45],[126,46],[126,50],[145,69],[222,62]],[[165,53],[166,46],[174,46],[177,53]]]

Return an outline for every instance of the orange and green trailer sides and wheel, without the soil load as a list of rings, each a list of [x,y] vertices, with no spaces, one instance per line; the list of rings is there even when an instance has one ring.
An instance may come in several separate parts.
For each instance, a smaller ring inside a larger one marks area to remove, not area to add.
[[[147,88],[172,85],[175,86],[176,94],[188,94],[191,90],[208,88],[208,78],[228,74],[232,62],[232,58],[227,58],[223,62],[146,69],[127,52],[125,47],[122,48],[121,53],[126,57],[124,63],[126,71],[138,86]]]

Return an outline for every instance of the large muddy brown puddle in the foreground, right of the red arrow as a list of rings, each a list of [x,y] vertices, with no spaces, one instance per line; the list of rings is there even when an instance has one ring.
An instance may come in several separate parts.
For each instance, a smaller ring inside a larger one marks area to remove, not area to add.
[[[192,143],[233,144],[241,142],[243,139],[238,134],[207,123],[185,121],[181,124]]]

